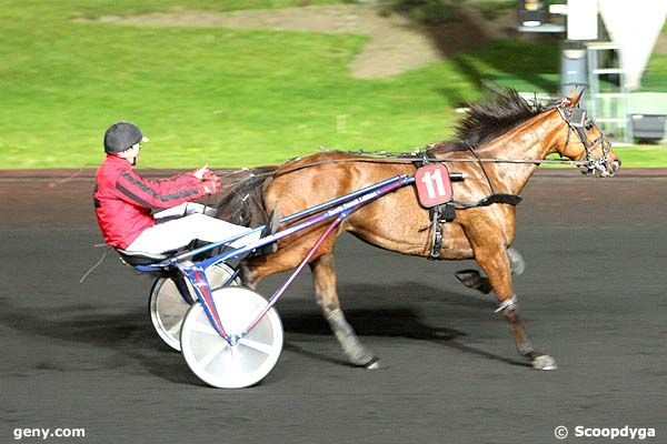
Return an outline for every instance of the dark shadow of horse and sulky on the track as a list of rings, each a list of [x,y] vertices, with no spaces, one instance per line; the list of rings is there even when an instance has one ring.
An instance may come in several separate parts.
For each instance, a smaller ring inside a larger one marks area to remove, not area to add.
[[[429,341],[447,347],[472,353],[486,359],[526,365],[490,352],[472,347],[461,341],[468,333],[447,326],[430,325],[425,321],[420,304],[438,301],[438,316],[489,316],[492,302],[479,297],[440,290],[416,283],[400,285],[344,285],[346,317],[359,336],[405,337]],[[370,295],[370,297],[369,297]],[[401,297],[397,302],[397,297]],[[91,304],[78,304],[58,310],[26,310],[11,300],[1,301],[0,323],[11,329],[48,339],[89,344],[115,352],[115,366],[138,362],[150,373],[181,384],[201,384],[189,371],[179,353],[163,344],[155,333],[147,311],[104,311]],[[429,304],[434,305],[434,304]],[[285,349],[310,359],[337,365],[349,365],[342,353],[326,353],[308,346],[317,336],[330,335],[329,325],[319,307],[310,299],[289,299],[279,302],[278,310],[286,332]],[[48,314],[44,314],[48,313]],[[290,337],[292,336],[292,337]],[[509,340],[509,337],[508,337]],[[321,342],[321,341],[320,341]],[[315,349],[315,350],[313,350]],[[100,364],[106,365],[104,363]],[[63,370],[56,364],[36,366],[40,370]]]

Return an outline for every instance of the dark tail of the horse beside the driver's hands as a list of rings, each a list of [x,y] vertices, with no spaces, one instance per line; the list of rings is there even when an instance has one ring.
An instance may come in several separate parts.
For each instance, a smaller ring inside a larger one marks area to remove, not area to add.
[[[225,196],[218,203],[218,218],[237,225],[256,226],[268,220],[263,190],[278,165],[237,170],[222,174]]]

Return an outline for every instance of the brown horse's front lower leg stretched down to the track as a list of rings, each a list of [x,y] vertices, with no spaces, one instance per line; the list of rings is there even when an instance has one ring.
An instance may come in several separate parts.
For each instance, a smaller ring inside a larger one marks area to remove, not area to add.
[[[491,243],[476,245],[475,259],[486,272],[496,296],[498,297],[498,310],[509,322],[511,332],[517,343],[517,350],[531,361],[536,370],[556,370],[556,361],[546,354],[538,353],[526,334],[524,323],[519,317],[517,296],[512,291],[510,259],[507,249],[502,244]]]

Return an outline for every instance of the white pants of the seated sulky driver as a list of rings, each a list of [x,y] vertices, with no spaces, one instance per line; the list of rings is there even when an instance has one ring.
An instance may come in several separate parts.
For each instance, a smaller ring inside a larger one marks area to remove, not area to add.
[[[146,229],[126,250],[159,254],[186,246],[196,239],[205,242],[220,242],[251,231],[249,228],[235,225],[233,223],[225,222],[202,213],[192,213],[179,219],[167,220],[169,219],[168,216],[188,212],[187,210],[192,208],[192,203],[189,203],[187,208],[180,206],[178,205],[178,208],[157,213],[156,221],[158,223]],[[200,208],[202,210],[206,209],[203,205]],[[201,211],[200,208],[197,208],[197,210]],[[161,222],[161,220],[166,221]],[[231,242],[230,246],[243,246],[259,240],[260,235],[261,232],[257,231]]]

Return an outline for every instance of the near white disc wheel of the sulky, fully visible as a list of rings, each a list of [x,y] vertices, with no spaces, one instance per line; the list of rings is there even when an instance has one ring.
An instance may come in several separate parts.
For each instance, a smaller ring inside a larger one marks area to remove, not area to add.
[[[240,334],[267,306],[256,292],[240,286],[213,291],[227,334]],[[275,309],[230,345],[210,324],[200,303],[192,305],[181,330],[181,349],[190,370],[209,385],[240,389],[257,384],[273,369],[282,350],[282,323]]]

